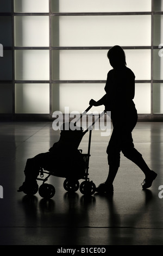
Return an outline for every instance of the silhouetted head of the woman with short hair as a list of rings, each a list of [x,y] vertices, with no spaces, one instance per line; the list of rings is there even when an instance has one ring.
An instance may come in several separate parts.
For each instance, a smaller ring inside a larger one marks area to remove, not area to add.
[[[115,45],[108,51],[108,59],[112,68],[121,68],[126,65],[126,56],[121,46]]]

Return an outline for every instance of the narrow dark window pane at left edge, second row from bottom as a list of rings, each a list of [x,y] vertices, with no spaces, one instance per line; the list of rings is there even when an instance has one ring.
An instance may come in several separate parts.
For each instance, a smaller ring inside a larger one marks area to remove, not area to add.
[[[12,51],[3,51],[0,57],[0,80],[12,80]]]

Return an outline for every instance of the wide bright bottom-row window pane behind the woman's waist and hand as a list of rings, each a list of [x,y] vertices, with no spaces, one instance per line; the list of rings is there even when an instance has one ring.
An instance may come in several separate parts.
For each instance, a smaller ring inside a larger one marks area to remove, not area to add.
[[[82,84],[53,84],[53,112],[65,113],[65,107],[70,112],[82,113],[89,106],[90,99],[99,100],[104,94],[105,83],[82,83]],[[135,106],[137,113],[151,113],[151,84],[136,83],[135,85]],[[91,111],[103,111],[104,106],[92,107]]]

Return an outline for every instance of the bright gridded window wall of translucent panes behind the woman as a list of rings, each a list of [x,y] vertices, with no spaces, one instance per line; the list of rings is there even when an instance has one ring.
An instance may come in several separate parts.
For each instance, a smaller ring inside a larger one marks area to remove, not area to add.
[[[0,91],[15,102],[2,101],[1,112],[52,116],[68,104],[83,111],[103,95],[111,69],[106,54],[121,45],[135,74],[138,113],[163,114],[163,0],[13,3],[0,11]]]

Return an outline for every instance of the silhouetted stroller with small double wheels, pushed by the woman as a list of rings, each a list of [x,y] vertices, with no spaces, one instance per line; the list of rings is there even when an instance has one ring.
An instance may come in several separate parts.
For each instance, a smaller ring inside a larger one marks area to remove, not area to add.
[[[83,114],[89,111],[90,108],[91,106],[89,106]],[[83,114],[80,116],[80,118],[82,118]],[[95,121],[93,124],[95,124]],[[91,126],[93,126],[93,124]],[[78,127],[78,129],[74,131],[70,129],[63,129],[61,131],[59,141],[54,143],[53,147],[50,149],[54,150],[57,155],[57,162],[55,161],[54,163],[55,167],[49,167],[46,170],[42,167],[40,168],[40,178],[37,178],[37,180],[41,180],[43,182],[40,187],[38,185],[35,187],[32,194],[39,191],[42,198],[52,198],[55,194],[55,187],[46,183],[51,175],[66,178],[64,181],[64,188],[68,192],[76,192],[78,189],[80,189],[80,192],[84,195],[92,195],[95,193],[96,186],[88,178],[92,130],[90,127],[85,131],[83,131],[81,128],[82,127]],[[87,154],[82,154],[82,150],[79,150],[78,147],[87,131],[89,131],[88,151]],[[66,144],[68,147],[65,147]],[[64,148],[62,145],[64,145]],[[44,176],[46,177],[44,178]],[[84,179],[80,185],[79,179]],[[24,193],[28,194],[28,192],[25,191]]]

